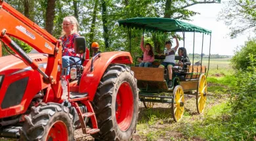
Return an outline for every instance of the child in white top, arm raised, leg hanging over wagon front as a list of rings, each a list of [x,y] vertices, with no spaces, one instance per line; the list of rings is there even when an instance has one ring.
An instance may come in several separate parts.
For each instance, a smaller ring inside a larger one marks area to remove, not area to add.
[[[175,53],[177,52],[177,49],[179,47],[179,40],[177,39],[177,37],[173,37],[176,40],[176,46],[175,48],[171,48],[172,44],[171,41],[168,40],[167,42],[165,42],[165,48],[167,48],[167,50],[164,52],[165,55],[165,59],[164,61],[161,63],[161,65],[159,66],[159,68],[165,68],[167,67],[168,69],[168,74],[169,74],[169,82],[168,82],[168,87],[173,86],[173,67],[175,66]],[[160,54],[163,55],[163,54]]]

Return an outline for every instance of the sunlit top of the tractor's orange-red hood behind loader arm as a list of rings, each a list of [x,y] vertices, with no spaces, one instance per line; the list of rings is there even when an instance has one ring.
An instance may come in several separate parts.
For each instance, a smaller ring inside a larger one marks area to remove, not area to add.
[[[38,65],[47,63],[47,55],[45,54],[28,54]],[[18,55],[17,55],[18,56]],[[26,69],[30,67],[26,65],[24,61],[15,57],[14,55],[8,55],[0,57],[0,74],[10,74],[18,70]]]

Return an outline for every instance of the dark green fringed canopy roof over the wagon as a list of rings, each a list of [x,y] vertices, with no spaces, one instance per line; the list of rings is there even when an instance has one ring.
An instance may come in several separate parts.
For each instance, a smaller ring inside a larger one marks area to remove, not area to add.
[[[118,20],[119,26],[161,32],[199,32],[211,34],[210,30],[171,18],[129,18]]]

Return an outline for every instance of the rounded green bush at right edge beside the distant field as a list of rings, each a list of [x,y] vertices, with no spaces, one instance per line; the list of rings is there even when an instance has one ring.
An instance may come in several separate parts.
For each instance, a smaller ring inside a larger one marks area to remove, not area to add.
[[[251,65],[248,54],[256,55],[256,39],[251,39],[245,42],[245,45],[236,50],[234,57],[231,59],[234,69],[247,69]]]

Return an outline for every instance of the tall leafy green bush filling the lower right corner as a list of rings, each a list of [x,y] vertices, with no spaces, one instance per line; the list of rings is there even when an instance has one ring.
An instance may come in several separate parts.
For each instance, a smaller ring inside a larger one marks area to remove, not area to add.
[[[250,43],[251,44],[251,43]],[[256,55],[249,54],[247,68],[236,74],[230,106],[232,116],[230,123],[234,138],[253,140],[256,136]]]

